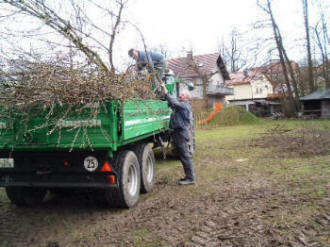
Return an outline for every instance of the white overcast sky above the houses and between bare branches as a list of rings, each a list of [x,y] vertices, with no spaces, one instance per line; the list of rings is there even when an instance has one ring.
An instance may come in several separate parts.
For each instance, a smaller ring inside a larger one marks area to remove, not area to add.
[[[84,2],[84,0],[79,1]],[[114,2],[114,0],[96,1],[101,4]],[[330,9],[328,3],[330,1],[310,0],[310,3],[314,3],[310,4],[311,25],[319,19],[319,13],[315,8],[315,3],[319,1],[323,3],[323,11],[328,15],[327,20],[329,19],[327,10]],[[49,2],[54,6],[60,4],[61,14],[67,11],[65,14],[70,15],[68,8],[65,7],[65,1]],[[290,58],[300,60],[305,53],[301,0],[274,0],[273,3],[274,14],[285,38]],[[87,11],[93,22],[106,28],[108,17],[100,15],[94,9]],[[149,48],[163,46],[169,51],[170,57],[183,56],[187,50],[193,50],[194,54],[217,52],[221,40],[228,39],[228,34],[233,28],[244,34],[242,46],[253,45],[256,40],[262,41],[272,35],[271,29],[268,31],[251,29],[252,23],[256,20],[265,19],[264,13],[256,5],[256,0],[129,0],[123,17],[141,29]],[[0,30],[6,31],[11,28],[21,29],[23,32],[32,27],[38,27],[39,30],[41,25],[35,19],[19,18],[16,22],[9,20],[2,23]],[[46,28],[40,28],[40,31],[47,33]],[[106,41],[106,38],[96,33],[93,35],[101,41]],[[51,40],[56,40],[53,37]],[[21,38],[14,43],[19,42],[23,43],[26,49],[41,47],[40,41]],[[58,39],[57,42],[68,44],[63,39]],[[126,25],[121,28],[115,43],[115,62],[120,67],[129,62],[127,56],[129,48],[143,49],[143,45],[136,30]],[[104,58],[107,59],[106,55]]]

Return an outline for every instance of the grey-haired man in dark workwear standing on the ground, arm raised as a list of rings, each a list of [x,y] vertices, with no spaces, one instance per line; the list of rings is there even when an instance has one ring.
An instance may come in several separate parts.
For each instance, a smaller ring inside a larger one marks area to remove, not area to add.
[[[191,106],[189,104],[189,93],[182,92],[179,100],[168,94],[165,84],[161,84],[165,98],[173,110],[170,119],[170,128],[173,130],[172,138],[181,160],[185,177],[179,180],[179,184],[187,185],[195,183],[194,164],[189,151],[191,138]]]

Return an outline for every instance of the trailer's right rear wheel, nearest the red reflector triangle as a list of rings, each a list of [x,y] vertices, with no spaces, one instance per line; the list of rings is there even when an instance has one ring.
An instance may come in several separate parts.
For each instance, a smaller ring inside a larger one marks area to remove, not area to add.
[[[137,203],[140,195],[139,161],[133,151],[125,150],[118,153],[114,167],[119,175],[118,188],[106,189],[106,202],[115,208],[131,208]]]

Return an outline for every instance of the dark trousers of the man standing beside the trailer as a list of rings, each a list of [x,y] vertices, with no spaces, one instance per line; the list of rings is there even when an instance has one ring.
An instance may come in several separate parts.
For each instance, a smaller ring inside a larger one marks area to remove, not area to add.
[[[194,164],[188,146],[189,138],[190,134],[187,130],[174,130],[172,132],[172,139],[182,163],[185,178],[195,180]]]

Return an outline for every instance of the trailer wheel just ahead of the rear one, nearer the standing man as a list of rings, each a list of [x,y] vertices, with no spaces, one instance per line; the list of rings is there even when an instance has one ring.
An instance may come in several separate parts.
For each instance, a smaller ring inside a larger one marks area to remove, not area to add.
[[[141,192],[151,192],[155,182],[155,156],[148,143],[134,146],[133,151],[138,158],[141,170]]]

